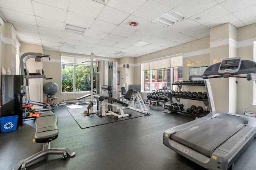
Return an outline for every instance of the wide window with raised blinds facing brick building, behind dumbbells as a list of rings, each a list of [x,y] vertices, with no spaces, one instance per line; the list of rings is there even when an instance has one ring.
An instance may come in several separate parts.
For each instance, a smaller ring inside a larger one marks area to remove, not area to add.
[[[149,93],[163,87],[177,90],[178,86],[172,83],[182,81],[182,55],[142,63],[142,75],[144,92]]]

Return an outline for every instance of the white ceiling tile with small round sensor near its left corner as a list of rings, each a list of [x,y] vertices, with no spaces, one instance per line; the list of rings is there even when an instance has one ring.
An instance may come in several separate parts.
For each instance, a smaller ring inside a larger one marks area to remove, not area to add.
[[[215,20],[216,18],[221,18],[223,16],[228,15],[229,12],[223,8],[220,5],[216,5],[212,8],[209,8],[208,10],[205,10],[203,12],[200,12],[199,14],[196,14],[192,18],[196,20],[195,18],[201,18],[200,20],[196,20],[196,22],[200,24],[204,24],[206,22]]]

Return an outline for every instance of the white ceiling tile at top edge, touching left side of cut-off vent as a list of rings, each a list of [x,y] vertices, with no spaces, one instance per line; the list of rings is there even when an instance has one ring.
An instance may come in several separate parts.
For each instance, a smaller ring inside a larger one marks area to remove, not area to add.
[[[70,0],[68,10],[84,16],[96,18],[103,7],[104,4],[95,2],[93,0]]]

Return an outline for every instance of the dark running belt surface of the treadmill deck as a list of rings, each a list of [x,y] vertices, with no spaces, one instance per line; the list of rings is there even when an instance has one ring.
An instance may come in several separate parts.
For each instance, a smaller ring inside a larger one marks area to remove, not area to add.
[[[213,150],[244,127],[244,124],[213,118],[186,128],[170,138],[209,158]]]

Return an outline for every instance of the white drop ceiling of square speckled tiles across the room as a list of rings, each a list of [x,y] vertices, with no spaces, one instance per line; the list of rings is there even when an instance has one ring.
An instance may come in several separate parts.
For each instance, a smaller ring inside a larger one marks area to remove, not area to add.
[[[169,27],[153,22],[171,10],[184,19]],[[254,0],[0,1],[0,16],[13,24],[20,42],[112,58],[139,57],[205,38],[210,28],[228,22],[236,28],[254,24],[255,11]],[[65,26],[78,27],[79,34]]]

